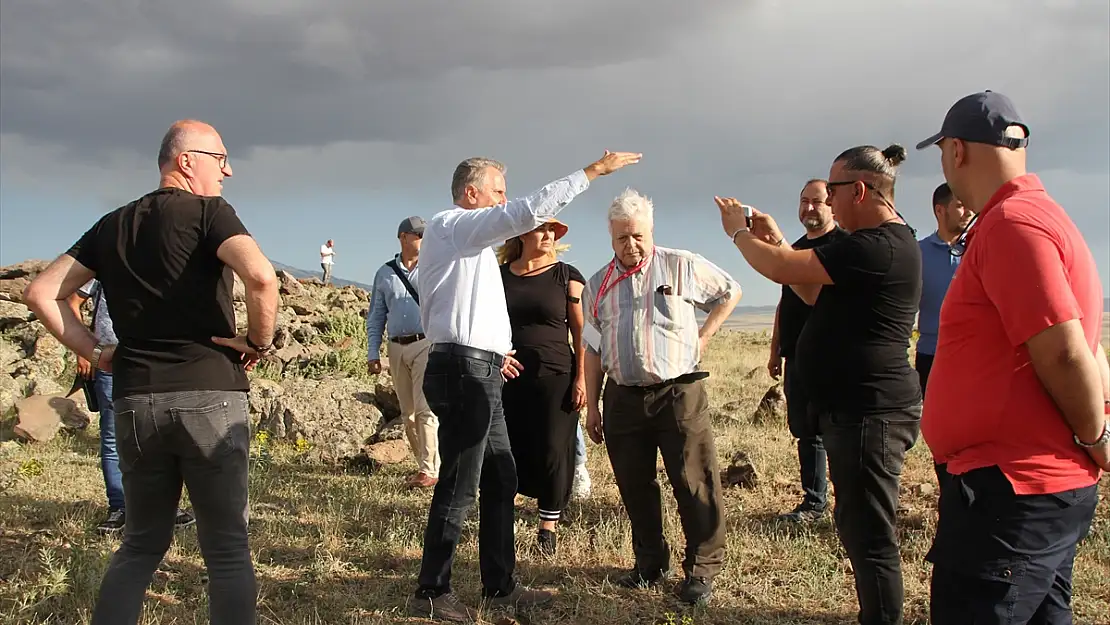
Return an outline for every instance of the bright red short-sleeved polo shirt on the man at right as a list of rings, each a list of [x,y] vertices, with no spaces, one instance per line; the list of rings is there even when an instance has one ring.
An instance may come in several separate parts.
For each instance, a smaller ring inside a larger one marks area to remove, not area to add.
[[[1097,349],[1102,285],[1094,258],[1037,175],[1016,178],[979,214],[940,309],[921,416],[938,463],[952,474],[998,465],[1019,495],[1099,481],[1025,345],[1074,319]]]

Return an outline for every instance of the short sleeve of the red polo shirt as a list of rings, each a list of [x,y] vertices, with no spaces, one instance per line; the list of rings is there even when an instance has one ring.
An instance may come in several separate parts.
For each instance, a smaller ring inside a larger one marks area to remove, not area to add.
[[[1059,235],[1039,224],[1005,220],[993,224],[989,234],[979,233],[976,243],[969,253],[975,254],[983,291],[998,310],[1011,345],[1082,317]]]

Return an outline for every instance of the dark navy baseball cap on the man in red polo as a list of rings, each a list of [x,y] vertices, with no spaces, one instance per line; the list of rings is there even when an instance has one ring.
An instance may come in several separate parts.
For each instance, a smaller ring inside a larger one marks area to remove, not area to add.
[[[1020,125],[1026,135],[1007,137],[1006,129],[1011,125]],[[918,143],[917,149],[925,150],[929,145],[936,145],[946,137],[1012,150],[1029,144],[1029,127],[1021,121],[1021,115],[1009,98],[988,89],[960,98],[948,109],[940,132]]]

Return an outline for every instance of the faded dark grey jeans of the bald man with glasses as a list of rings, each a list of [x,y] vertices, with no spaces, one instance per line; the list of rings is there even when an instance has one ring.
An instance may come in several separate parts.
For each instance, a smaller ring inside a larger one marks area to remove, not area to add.
[[[154,569],[173,541],[188,485],[209,576],[209,622],[254,623],[256,586],[246,537],[251,442],[246,393],[189,391],[115,400],[123,472],[123,542],[100,585],[92,625],[134,625]]]

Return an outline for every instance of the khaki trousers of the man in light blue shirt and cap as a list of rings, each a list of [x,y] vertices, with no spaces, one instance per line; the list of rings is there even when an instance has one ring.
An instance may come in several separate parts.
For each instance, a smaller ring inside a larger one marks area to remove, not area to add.
[[[428,477],[440,476],[440,420],[424,399],[424,369],[432,344],[427,339],[402,345],[390,341],[390,374],[401,404],[405,437],[420,471]]]

